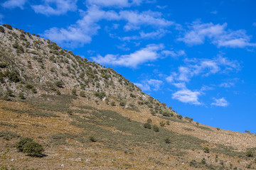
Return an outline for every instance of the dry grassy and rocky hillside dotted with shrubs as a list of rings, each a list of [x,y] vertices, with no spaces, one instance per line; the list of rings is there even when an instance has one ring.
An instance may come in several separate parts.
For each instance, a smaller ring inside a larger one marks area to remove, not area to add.
[[[255,134],[183,118],[39,35],[5,25],[0,40],[0,169],[256,169]],[[18,152],[22,137],[43,157]]]

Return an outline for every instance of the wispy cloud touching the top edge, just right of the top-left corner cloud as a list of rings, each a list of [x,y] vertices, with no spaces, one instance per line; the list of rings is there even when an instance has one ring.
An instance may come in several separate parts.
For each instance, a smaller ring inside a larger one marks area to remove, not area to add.
[[[75,11],[77,0],[44,0],[43,5],[31,6],[36,13],[42,13],[46,16],[60,15],[68,11]],[[52,6],[55,6],[53,8]]]

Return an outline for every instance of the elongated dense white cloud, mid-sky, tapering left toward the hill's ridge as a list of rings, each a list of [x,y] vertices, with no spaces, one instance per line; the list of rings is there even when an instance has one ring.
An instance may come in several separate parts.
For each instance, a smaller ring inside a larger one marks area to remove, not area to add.
[[[97,55],[92,57],[92,60],[100,64],[119,65],[124,67],[137,67],[139,64],[154,61],[159,58],[159,50],[162,50],[164,45],[146,45],[146,47],[129,55]]]

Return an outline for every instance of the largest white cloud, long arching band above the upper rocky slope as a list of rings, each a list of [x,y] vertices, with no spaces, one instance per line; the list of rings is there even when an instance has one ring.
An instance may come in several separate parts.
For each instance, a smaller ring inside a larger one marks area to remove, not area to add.
[[[50,28],[45,31],[44,36],[63,46],[71,45],[75,47],[78,45],[84,45],[85,43],[90,43],[92,36],[97,35],[97,30],[101,28],[97,22],[102,20],[125,21],[124,30],[126,31],[136,30],[142,26],[151,26],[161,29],[166,26],[171,26],[173,23],[161,18],[161,13],[152,11],[144,11],[142,13],[137,11],[120,11],[117,13],[116,11],[111,10],[104,11],[98,6],[89,6],[87,11],[82,12],[82,14],[82,19],[77,21],[75,24],[68,28]],[[163,33],[163,31],[161,30],[160,33]],[[146,33],[142,35],[144,38],[149,38],[149,35],[146,35]]]

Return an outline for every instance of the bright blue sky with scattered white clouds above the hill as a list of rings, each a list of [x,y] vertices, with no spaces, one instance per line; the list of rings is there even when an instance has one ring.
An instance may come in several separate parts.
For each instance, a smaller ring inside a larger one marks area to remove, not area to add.
[[[0,23],[112,67],[179,114],[256,132],[256,1],[0,2]]]

